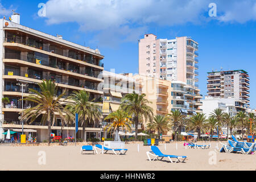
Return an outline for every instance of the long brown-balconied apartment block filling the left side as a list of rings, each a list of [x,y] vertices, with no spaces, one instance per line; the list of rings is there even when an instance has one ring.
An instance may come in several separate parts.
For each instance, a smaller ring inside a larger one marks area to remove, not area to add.
[[[30,94],[28,89],[39,90],[37,84],[42,80],[55,81],[59,88],[58,94],[67,90],[65,97],[75,90],[86,90],[91,99],[100,101],[104,94],[99,87],[104,81],[99,77],[104,70],[104,56],[100,51],[69,42],[61,36],[48,35],[22,26],[19,24],[19,14],[14,14],[12,19],[13,22],[0,19],[0,94],[1,98],[8,97],[10,100],[10,104],[1,107],[3,129],[22,129],[19,116],[23,110],[19,100]],[[66,104],[63,102],[63,105]],[[33,103],[23,103],[23,109],[32,106]],[[38,142],[47,139],[47,126],[40,119],[31,124],[24,123],[24,132],[32,132]],[[73,125],[64,126],[63,137],[74,137],[74,131]],[[60,119],[52,126],[52,133],[61,134]],[[82,128],[79,127],[78,138],[81,138],[81,134]],[[100,126],[89,125],[85,136],[100,136]]]

